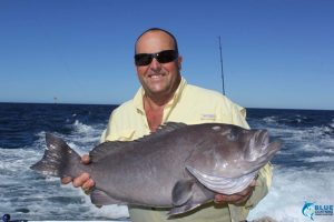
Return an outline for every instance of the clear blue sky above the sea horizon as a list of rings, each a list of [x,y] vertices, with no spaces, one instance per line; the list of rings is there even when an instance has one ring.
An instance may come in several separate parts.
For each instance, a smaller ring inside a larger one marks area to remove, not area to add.
[[[334,110],[332,0],[0,0],[0,102],[121,103],[136,38],[178,39],[189,83],[247,108]]]

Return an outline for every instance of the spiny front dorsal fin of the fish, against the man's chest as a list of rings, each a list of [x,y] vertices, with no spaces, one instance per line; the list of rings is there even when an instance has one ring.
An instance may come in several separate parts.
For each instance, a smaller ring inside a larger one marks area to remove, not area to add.
[[[148,141],[148,140],[159,139],[160,137],[163,137],[167,133],[170,133],[175,130],[178,130],[178,129],[181,129],[181,128],[185,128],[185,127],[187,127],[187,124],[181,123],[181,122],[166,122],[166,123],[159,125],[159,128],[155,132],[153,132],[148,135],[144,135],[143,138],[139,138],[135,141],[136,142],[145,142],[145,141]]]

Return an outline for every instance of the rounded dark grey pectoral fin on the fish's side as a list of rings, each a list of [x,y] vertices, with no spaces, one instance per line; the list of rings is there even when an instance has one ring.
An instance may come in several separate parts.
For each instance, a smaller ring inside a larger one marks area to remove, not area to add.
[[[183,205],[193,196],[194,180],[179,180],[171,191],[173,205]]]

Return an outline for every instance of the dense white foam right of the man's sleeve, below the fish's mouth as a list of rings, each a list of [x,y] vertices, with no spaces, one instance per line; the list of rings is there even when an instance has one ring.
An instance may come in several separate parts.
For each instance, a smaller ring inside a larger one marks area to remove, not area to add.
[[[302,214],[305,201],[334,203],[333,171],[276,169],[269,193],[250,211],[248,220],[271,216],[279,222],[307,221]],[[334,221],[334,218],[316,216],[315,221]]]

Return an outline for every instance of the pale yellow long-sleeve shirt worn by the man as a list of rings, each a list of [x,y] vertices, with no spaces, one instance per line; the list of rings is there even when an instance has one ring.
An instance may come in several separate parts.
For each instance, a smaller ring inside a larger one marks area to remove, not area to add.
[[[150,133],[144,111],[144,93],[143,88],[140,88],[132,100],[114,110],[101,141],[131,141]],[[187,84],[185,79],[181,79],[174,98],[164,109],[163,122],[184,122],[186,124],[219,122],[248,129],[245,118],[246,110],[233,103],[223,94]],[[249,209],[254,208],[266,195],[271,183],[272,167],[266,164],[259,171],[255,190],[245,205],[216,205],[212,202],[168,221],[243,221],[246,219]],[[134,222],[167,221],[166,212],[166,210],[129,206],[130,218]]]

